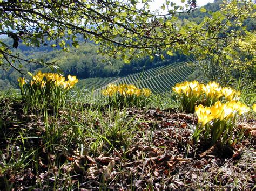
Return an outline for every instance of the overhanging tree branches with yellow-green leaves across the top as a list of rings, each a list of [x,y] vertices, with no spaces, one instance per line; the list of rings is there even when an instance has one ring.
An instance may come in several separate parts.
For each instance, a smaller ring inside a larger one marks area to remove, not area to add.
[[[138,5],[142,2],[142,5]],[[68,50],[69,40],[78,47],[77,35],[99,44],[99,53],[122,58],[129,62],[134,57],[151,56],[156,53],[164,57],[164,51],[193,54],[198,60],[209,56],[215,60],[232,59],[224,47],[237,38],[245,36],[242,22],[255,18],[255,4],[232,1],[223,3],[217,12],[208,12],[199,24],[179,22],[179,13],[190,13],[196,1],[188,1],[184,7],[166,0],[161,10],[152,12],[151,0],[83,0],[83,1],[1,1],[0,34],[13,39],[12,47],[19,43],[39,47],[48,44]],[[181,0],[185,2],[185,0]],[[140,8],[138,8],[140,7]],[[166,11],[167,10],[167,11]],[[230,30],[230,27],[241,30]],[[0,40],[0,65],[17,68],[27,61],[12,52],[11,47]],[[15,63],[17,62],[17,63]],[[35,63],[41,61],[32,60]]]

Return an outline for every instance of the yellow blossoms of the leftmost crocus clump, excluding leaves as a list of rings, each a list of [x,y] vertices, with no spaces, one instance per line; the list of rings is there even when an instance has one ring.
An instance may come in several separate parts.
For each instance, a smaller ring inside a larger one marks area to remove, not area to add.
[[[65,77],[62,75],[57,73],[42,73],[41,71],[38,71],[36,75],[32,76],[32,79],[30,81],[31,86],[33,84],[41,84],[42,88],[49,81],[53,81],[55,86],[63,86],[64,89],[72,88],[78,82],[76,76],[68,75],[68,80],[65,81]],[[26,83],[23,77],[19,77],[18,82],[19,86],[24,86]]]

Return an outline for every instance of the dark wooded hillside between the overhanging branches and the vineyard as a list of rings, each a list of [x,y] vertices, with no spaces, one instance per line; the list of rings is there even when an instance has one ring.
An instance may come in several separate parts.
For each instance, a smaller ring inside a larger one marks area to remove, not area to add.
[[[21,46],[22,48],[23,46]],[[185,61],[186,57],[178,53],[173,56],[165,56],[165,60],[161,60],[158,56],[151,60],[145,57],[140,60],[132,60],[130,64],[125,64],[120,59],[105,58],[97,54],[98,46],[93,43],[80,43],[78,48],[70,47],[69,52],[64,52],[59,49],[50,51],[48,47],[23,49],[19,48],[17,52],[22,54],[26,59],[44,60],[45,62],[57,61],[59,70],[65,75],[76,75],[80,79],[88,77],[114,77],[125,76],[141,70],[163,66],[172,62]],[[50,71],[50,68],[42,68],[40,65],[29,64],[25,68],[30,72],[42,70],[43,72]],[[0,85],[6,83],[16,83],[20,74],[14,70],[0,69]],[[9,82],[8,82],[9,81]]]

